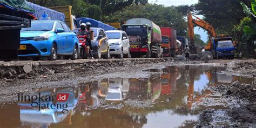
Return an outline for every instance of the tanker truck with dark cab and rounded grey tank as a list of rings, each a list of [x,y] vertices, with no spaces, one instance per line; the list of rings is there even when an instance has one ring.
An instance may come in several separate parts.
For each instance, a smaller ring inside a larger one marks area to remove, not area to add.
[[[129,36],[132,57],[160,58],[163,55],[160,27],[149,19],[129,19],[122,25],[122,30]]]

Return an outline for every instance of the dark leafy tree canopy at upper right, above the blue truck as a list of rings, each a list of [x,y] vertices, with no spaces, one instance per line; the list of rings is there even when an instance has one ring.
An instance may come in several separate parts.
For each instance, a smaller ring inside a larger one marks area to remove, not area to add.
[[[205,16],[204,20],[211,23],[217,31],[225,31],[231,35],[233,25],[239,24],[245,17],[240,0],[199,0],[194,9],[196,14]]]

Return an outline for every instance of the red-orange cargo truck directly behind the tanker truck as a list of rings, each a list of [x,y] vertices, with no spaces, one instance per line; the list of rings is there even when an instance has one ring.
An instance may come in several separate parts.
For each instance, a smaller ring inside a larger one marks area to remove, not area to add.
[[[174,57],[178,51],[177,31],[173,28],[160,28],[162,33],[161,47],[164,57]]]

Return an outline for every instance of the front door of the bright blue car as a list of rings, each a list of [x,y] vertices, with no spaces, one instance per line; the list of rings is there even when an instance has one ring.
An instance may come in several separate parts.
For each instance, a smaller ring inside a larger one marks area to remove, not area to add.
[[[57,32],[57,29],[64,29],[62,24],[60,22],[56,22],[55,25],[55,31]],[[65,32],[59,32],[56,33],[56,40],[57,40],[57,53],[63,54],[65,52],[65,43],[66,43],[66,33]]]

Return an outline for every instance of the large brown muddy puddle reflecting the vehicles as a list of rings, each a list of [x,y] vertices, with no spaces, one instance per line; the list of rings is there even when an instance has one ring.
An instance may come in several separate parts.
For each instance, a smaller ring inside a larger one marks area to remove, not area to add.
[[[208,86],[254,82],[218,73],[223,70],[170,66],[146,70],[149,78],[105,78],[76,87],[34,89],[31,95],[20,93],[18,103],[1,106],[0,127],[193,127],[204,109],[220,109],[219,115],[228,109],[201,104],[211,93]]]

